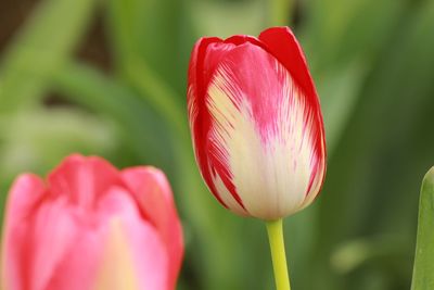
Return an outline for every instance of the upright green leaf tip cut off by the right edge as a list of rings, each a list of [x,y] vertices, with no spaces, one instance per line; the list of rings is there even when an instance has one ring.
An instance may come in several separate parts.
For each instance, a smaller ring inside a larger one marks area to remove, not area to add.
[[[422,181],[411,285],[411,290],[429,289],[434,289],[434,167],[426,173]]]

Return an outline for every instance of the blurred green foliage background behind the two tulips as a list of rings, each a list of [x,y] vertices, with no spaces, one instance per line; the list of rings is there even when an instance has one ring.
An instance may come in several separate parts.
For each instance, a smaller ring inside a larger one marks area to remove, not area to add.
[[[293,289],[409,289],[434,164],[430,0],[2,0],[0,204],[18,173],[71,152],[153,164],[184,226],[178,289],[273,289],[265,226],[204,188],[186,119],[194,41],[271,25],[305,49],[329,152],[320,198],[285,219]]]

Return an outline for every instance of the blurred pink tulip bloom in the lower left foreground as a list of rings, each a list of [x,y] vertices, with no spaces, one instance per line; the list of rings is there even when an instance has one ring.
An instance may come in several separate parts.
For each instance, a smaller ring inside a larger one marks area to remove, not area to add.
[[[4,290],[171,290],[183,254],[165,175],[71,155],[20,176],[2,238]]]

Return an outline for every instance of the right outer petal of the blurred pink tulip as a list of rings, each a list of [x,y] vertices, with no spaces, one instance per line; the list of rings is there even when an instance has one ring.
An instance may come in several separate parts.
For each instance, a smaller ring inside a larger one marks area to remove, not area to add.
[[[150,166],[125,169],[122,176],[167,248],[170,261],[168,285],[169,289],[175,289],[183,255],[183,240],[168,180],[163,172]]]

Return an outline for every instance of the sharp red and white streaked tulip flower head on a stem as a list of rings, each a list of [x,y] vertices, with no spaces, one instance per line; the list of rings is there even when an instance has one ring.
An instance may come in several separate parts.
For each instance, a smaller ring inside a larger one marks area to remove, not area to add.
[[[326,175],[323,122],[290,28],[201,38],[190,60],[188,110],[199,167],[222,205],[278,219],[317,197]]]

